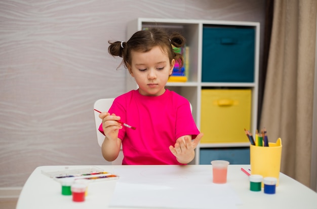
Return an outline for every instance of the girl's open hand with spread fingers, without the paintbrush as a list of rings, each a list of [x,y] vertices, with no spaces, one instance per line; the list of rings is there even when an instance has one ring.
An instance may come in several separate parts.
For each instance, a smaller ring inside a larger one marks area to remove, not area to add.
[[[189,163],[195,156],[194,149],[201,141],[203,134],[200,133],[194,140],[190,136],[182,136],[176,140],[174,147],[171,145],[169,148],[177,158],[177,161],[183,164]]]

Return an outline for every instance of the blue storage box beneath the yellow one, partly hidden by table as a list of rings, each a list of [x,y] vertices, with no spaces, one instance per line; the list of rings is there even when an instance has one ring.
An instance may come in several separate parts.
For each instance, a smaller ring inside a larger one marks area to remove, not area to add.
[[[230,164],[250,164],[250,148],[201,148],[199,163],[210,164],[212,160],[227,160]]]

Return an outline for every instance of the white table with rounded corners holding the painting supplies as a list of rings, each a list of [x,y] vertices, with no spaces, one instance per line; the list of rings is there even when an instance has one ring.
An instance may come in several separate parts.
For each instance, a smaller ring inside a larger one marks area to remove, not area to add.
[[[137,185],[148,183],[152,178],[153,182],[162,179],[169,185],[169,182],[185,182],[188,185],[188,192],[181,199],[175,202],[186,202],[193,194],[200,194],[200,191],[191,189],[193,185],[214,185],[212,183],[211,165],[96,165],[107,172],[120,176],[118,180],[92,182],[88,187],[88,195],[85,202],[73,202],[71,196],[61,195],[60,183],[42,174],[48,169],[60,170],[65,166],[40,166],[34,170],[26,181],[17,204],[17,209],[23,208],[129,208],[109,207],[113,198],[115,187],[131,183]],[[87,168],[88,166],[68,166],[72,168]],[[235,208],[317,208],[317,193],[308,187],[300,184],[294,179],[280,174],[280,185],[276,187],[275,194],[264,194],[249,190],[248,176],[241,171],[241,168],[248,170],[250,165],[229,165],[227,184],[234,194],[239,197],[241,204]],[[165,183],[162,184],[164,186]],[[145,184],[144,184],[145,185]],[[146,184],[149,187],[151,184]],[[184,187],[185,188],[185,187]],[[116,190],[117,191],[117,190]],[[137,194],[131,192],[131,196]],[[188,196],[186,196],[188,195]],[[203,195],[203,194],[201,194]],[[171,197],[173,198],[173,197]],[[213,198],[217,198],[213,195]],[[221,198],[221,197],[220,197]],[[212,198],[211,198],[212,199]],[[212,201],[210,201],[212,205]],[[133,207],[136,208],[136,207]],[[156,207],[150,207],[156,208]],[[212,206],[210,206],[212,208]]]

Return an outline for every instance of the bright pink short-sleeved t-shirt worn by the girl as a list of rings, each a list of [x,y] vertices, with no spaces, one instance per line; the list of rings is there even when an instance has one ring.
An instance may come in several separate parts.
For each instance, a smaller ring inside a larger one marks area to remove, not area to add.
[[[117,97],[109,113],[136,127],[136,130],[123,127],[119,131],[124,153],[122,164],[181,164],[169,146],[174,146],[181,136],[192,135],[194,139],[199,134],[189,102],[170,90],[158,97],[132,90]],[[102,124],[99,131],[103,133]]]

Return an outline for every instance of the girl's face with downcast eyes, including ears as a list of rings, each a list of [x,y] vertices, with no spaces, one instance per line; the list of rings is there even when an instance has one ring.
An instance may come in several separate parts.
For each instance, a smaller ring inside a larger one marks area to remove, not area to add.
[[[139,85],[139,92],[145,96],[160,96],[173,72],[175,60],[170,63],[167,53],[159,46],[148,52],[131,51],[129,71]]]

